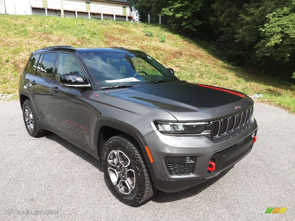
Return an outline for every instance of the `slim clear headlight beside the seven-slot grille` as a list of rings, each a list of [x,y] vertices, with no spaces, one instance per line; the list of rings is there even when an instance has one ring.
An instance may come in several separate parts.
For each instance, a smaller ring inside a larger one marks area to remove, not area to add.
[[[156,127],[161,133],[167,134],[196,134],[202,133],[208,122],[198,123],[167,123],[167,122],[155,122]]]

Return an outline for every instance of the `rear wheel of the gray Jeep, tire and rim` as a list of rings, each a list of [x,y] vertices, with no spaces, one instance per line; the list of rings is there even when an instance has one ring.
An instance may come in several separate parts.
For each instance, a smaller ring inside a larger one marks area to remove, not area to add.
[[[40,128],[40,125],[37,123],[35,109],[30,100],[24,101],[22,112],[27,131],[32,137],[42,136],[47,132]]]

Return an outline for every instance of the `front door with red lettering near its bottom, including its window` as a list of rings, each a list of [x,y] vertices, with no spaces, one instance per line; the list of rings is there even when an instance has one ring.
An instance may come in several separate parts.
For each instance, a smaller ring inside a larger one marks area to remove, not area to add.
[[[88,104],[92,90],[91,88],[64,87],[59,82],[61,75],[72,73],[82,75],[86,81],[86,76],[75,55],[66,52],[59,53],[56,73],[55,80],[50,86],[50,105],[52,106],[54,126],[59,131],[91,147]]]

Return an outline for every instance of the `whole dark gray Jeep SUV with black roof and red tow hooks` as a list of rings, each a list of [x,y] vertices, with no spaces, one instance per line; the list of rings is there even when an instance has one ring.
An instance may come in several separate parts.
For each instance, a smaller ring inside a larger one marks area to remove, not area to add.
[[[256,141],[247,95],[179,80],[125,48],[37,50],[19,99],[31,136],[51,131],[102,161],[109,189],[131,206],[218,176]]]

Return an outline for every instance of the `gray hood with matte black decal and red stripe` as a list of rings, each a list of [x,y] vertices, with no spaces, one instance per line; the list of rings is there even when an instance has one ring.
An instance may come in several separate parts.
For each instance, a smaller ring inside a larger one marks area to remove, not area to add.
[[[186,81],[105,90],[105,93],[165,110],[178,122],[215,120],[253,105],[253,100],[241,92]]]

